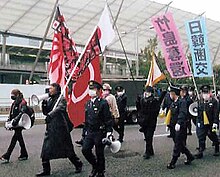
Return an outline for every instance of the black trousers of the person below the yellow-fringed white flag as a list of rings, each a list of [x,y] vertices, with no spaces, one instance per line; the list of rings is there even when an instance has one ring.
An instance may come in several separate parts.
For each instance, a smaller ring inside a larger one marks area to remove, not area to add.
[[[144,138],[146,142],[145,154],[146,155],[154,155],[153,149],[153,136],[154,136],[155,128],[153,127],[143,127]]]

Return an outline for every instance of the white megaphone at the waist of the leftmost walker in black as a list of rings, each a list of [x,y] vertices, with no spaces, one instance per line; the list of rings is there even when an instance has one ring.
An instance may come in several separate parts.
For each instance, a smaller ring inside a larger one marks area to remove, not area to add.
[[[9,130],[11,128],[16,128],[16,127],[23,127],[26,130],[31,128],[31,119],[30,119],[29,115],[26,113],[22,114],[22,116],[18,122],[18,125],[13,126],[12,122],[13,122],[13,120],[5,122],[5,128],[7,130]]]

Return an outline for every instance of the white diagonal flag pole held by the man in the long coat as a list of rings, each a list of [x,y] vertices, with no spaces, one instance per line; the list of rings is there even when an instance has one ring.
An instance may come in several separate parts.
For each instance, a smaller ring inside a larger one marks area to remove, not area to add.
[[[90,35],[89,40],[87,41],[87,43],[86,43],[86,45],[85,45],[85,47],[84,47],[82,53],[80,54],[79,58],[77,59],[76,64],[75,64],[75,66],[73,67],[73,70],[71,71],[71,73],[70,73],[70,75],[69,75],[69,78],[67,79],[66,84],[65,84],[64,87],[62,88],[61,94],[60,94],[59,98],[57,99],[56,104],[55,104],[54,107],[53,107],[53,110],[57,107],[57,105],[58,105],[58,103],[59,103],[59,101],[60,101],[62,95],[64,94],[64,92],[65,92],[65,90],[66,90],[66,88],[67,88],[67,86],[68,86],[68,84],[69,84],[69,82],[70,82],[70,80],[71,80],[71,78],[72,78],[72,76],[73,76],[75,70],[76,70],[76,67],[77,67],[78,64],[80,63],[80,61],[81,61],[81,59],[82,59],[82,57],[83,57],[83,55],[84,55],[84,53],[85,53],[85,51],[86,51],[86,49],[87,49],[87,46],[88,46],[90,40],[92,39],[92,37],[93,37],[93,35],[94,35],[94,33],[95,33],[96,30],[97,30],[97,26],[95,26],[95,28],[94,28],[92,34]]]

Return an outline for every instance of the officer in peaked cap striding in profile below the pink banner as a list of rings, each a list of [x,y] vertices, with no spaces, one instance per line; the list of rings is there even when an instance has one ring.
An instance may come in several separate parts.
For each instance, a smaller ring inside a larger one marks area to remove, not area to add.
[[[185,154],[187,157],[186,161],[184,162],[185,165],[190,165],[194,160],[194,157],[187,149],[185,141],[187,136],[187,101],[184,97],[180,97],[180,89],[174,86],[170,86],[170,97],[173,100],[170,106],[170,132],[174,141],[174,148],[172,160],[167,165],[167,168],[174,169],[180,153]]]

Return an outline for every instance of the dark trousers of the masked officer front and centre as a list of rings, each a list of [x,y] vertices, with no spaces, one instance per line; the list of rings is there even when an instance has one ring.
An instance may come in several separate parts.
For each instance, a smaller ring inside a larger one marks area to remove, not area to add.
[[[105,134],[101,131],[88,132],[82,146],[82,153],[84,157],[92,165],[92,167],[97,170],[97,172],[105,171],[105,145],[102,144],[103,138],[105,138]],[[92,153],[94,146],[96,156]]]

